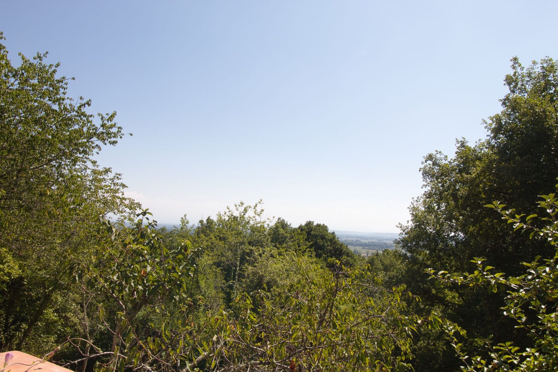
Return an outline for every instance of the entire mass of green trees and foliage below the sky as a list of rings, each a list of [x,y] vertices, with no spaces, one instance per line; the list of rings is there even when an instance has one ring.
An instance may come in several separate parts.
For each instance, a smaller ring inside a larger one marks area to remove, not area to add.
[[[95,162],[116,113],[45,58],[0,44],[0,350],[82,372],[556,369],[553,60],[512,60],[488,137],[427,155],[396,249],[365,259],[261,201],[157,228]]]

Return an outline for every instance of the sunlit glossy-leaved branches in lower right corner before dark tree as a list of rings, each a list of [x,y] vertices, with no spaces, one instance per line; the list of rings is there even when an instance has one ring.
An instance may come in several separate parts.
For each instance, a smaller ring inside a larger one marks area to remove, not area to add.
[[[556,185],[558,187],[558,185]],[[513,224],[514,230],[526,233],[530,238],[541,238],[556,248],[558,243],[558,198],[555,194],[541,195],[538,205],[547,211],[547,216],[538,218],[537,214],[525,217],[517,215],[514,209],[504,209],[506,205],[494,202],[486,205],[496,209]],[[538,220],[538,221],[537,221]],[[546,224],[541,228],[537,223]],[[495,268],[484,264],[484,258],[474,258],[472,262],[477,269],[472,274],[461,276],[429,269],[436,284],[450,283],[485,289],[488,293],[506,291],[507,296],[502,307],[503,315],[514,320],[515,327],[527,332],[530,342],[517,345],[513,340],[493,345],[492,336],[485,339],[485,355],[470,357],[459,340],[461,328],[446,325],[446,331],[452,345],[463,362],[463,371],[554,371],[558,368],[558,251],[551,258],[532,262],[522,262],[526,271],[520,276],[505,277],[504,273],[495,272]]]

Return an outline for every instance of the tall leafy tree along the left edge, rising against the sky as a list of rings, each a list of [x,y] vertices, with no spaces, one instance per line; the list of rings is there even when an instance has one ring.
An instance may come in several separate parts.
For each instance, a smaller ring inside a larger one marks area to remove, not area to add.
[[[99,216],[137,206],[123,196],[120,175],[93,157],[124,135],[116,113],[95,120],[90,101],[68,97],[71,79],[46,56],[20,54],[13,65],[0,44],[0,252],[8,266],[0,349],[22,349],[47,308],[64,302],[68,257],[90,247]]]

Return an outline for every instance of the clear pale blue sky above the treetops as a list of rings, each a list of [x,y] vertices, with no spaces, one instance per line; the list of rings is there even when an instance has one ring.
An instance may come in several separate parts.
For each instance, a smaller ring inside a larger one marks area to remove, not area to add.
[[[557,2],[0,4],[17,52],[133,137],[99,156],[160,223],[263,199],[294,225],[397,232],[422,157],[485,136],[509,59],[558,58]]]

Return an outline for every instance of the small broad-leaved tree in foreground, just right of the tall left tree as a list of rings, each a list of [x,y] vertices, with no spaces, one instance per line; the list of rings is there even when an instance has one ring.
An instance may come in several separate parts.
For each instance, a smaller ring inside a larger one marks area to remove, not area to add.
[[[87,354],[86,359],[108,355],[112,369],[122,369],[126,360],[136,359],[137,364],[149,354],[148,339],[142,337],[145,324],[138,322],[145,308],[156,313],[183,312],[192,301],[189,296],[195,286],[198,252],[187,240],[175,247],[163,244],[148,215],[141,212],[136,225],[129,229],[104,221],[96,249],[74,268],[78,282],[100,297],[99,316],[112,335],[110,351],[89,355],[86,350],[81,354]],[[168,314],[163,316],[168,318]]]

